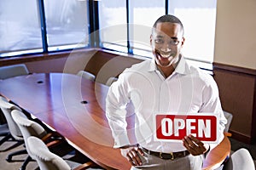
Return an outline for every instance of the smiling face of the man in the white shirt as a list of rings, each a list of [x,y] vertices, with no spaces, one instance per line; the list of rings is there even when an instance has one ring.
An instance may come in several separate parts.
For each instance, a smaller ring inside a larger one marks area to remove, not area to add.
[[[176,64],[183,42],[180,25],[169,22],[158,23],[150,37],[156,64],[161,67]]]

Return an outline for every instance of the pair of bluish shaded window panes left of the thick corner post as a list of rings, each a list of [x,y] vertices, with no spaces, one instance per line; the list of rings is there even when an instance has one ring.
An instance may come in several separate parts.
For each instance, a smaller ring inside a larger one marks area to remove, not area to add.
[[[47,51],[88,46],[87,1],[44,0],[44,8],[38,2],[0,1],[0,57],[43,52],[40,10]]]

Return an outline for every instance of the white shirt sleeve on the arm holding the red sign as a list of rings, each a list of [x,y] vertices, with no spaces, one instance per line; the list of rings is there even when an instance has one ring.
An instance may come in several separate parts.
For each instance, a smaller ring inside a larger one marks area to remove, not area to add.
[[[224,112],[221,107],[218,86],[216,82],[211,77],[207,81],[207,85],[203,88],[202,95],[203,104],[201,105],[200,112],[212,112],[218,114],[219,124],[218,124],[218,144],[224,139],[224,128],[227,123],[227,119],[224,116]],[[218,144],[210,144],[210,149],[212,150]]]

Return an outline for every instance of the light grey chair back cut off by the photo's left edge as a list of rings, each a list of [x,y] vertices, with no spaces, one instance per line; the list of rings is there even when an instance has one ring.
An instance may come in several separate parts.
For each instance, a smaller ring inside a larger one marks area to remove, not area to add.
[[[18,127],[17,123],[14,121],[13,117],[11,116],[11,111],[14,111],[14,110],[21,111],[20,107],[9,103],[7,99],[0,96],[0,108],[3,111],[3,115],[5,116],[6,122],[8,124],[9,133],[11,133],[11,135],[16,140],[23,140],[22,133],[20,132],[20,127]]]

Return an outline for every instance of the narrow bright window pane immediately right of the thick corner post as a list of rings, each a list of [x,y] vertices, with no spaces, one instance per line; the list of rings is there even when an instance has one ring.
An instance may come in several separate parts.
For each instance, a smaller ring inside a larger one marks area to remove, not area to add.
[[[101,46],[127,53],[126,1],[99,1]]]

